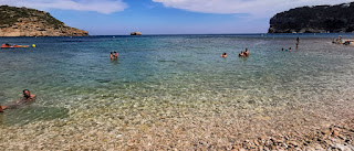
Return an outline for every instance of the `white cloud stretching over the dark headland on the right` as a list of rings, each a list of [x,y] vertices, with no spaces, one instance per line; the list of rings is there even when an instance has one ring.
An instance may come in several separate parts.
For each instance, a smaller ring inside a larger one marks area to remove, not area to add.
[[[254,17],[272,17],[291,8],[316,4],[339,4],[353,0],[153,0],[167,8],[201,13],[248,13]]]

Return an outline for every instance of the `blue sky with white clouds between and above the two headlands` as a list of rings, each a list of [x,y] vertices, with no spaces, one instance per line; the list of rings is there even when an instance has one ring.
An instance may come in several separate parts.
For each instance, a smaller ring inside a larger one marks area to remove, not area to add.
[[[50,12],[91,35],[267,33],[278,12],[353,0],[0,0]]]

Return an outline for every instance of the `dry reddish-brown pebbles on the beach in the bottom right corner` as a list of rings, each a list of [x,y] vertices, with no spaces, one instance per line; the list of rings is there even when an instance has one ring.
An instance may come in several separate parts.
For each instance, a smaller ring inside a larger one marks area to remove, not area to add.
[[[322,128],[306,134],[292,132],[272,137],[263,136],[254,140],[246,140],[232,145],[231,150],[351,151],[354,150],[353,141],[354,119],[351,119],[343,123]]]

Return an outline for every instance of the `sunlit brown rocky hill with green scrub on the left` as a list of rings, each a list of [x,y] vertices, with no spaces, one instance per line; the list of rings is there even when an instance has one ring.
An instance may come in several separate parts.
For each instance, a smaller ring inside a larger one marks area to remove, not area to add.
[[[0,36],[87,36],[50,13],[34,9],[0,6]]]

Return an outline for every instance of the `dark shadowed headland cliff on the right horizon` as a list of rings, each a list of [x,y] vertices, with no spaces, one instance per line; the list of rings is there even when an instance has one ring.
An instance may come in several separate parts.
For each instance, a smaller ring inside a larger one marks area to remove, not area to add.
[[[354,2],[291,9],[270,20],[269,33],[326,33],[354,31]]]

